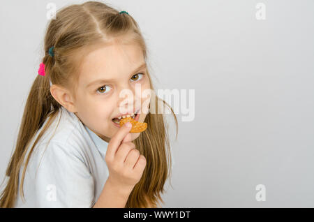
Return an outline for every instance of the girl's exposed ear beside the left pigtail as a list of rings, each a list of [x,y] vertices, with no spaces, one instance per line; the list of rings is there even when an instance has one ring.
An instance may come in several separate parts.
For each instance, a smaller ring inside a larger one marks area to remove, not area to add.
[[[57,84],[52,84],[50,87],[50,94],[60,105],[66,108],[66,110],[69,112],[77,112],[77,109],[75,108],[75,101],[68,89],[60,87]]]

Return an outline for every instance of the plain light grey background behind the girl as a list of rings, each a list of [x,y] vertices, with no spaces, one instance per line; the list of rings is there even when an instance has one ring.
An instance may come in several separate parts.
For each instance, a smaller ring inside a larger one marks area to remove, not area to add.
[[[1,180],[49,2],[82,1],[0,2]],[[177,141],[171,133],[163,207],[314,207],[314,1],[105,2],[140,24],[156,89],[195,89],[195,119],[178,114]],[[258,2],[266,20],[255,18]]]

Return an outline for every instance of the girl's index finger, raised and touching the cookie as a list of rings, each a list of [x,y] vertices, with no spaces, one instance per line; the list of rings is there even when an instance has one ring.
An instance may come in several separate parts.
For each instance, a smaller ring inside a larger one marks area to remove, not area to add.
[[[130,129],[132,128],[132,124],[126,123],[119,128],[119,131],[110,139],[106,156],[109,158],[114,158],[114,155],[117,152],[117,149],[121,145],[122,140],[126,137]]]

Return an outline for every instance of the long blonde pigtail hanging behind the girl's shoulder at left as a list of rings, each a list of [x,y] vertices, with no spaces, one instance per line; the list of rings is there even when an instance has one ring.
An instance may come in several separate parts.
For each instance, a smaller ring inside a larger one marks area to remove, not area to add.
[[[47,63],[47,60],[44,59],[44,61]],[[24,161],[27,145],[38,129],[43,126],[45,119],[51,112],[52,98],[50,96],[49,79],[47,76],[37,75],[29,91],[27,103],[24,108],[15,151],[6,169],[8,182],[0,195],[0,207],[14,207],[17,197],[20,167]]]

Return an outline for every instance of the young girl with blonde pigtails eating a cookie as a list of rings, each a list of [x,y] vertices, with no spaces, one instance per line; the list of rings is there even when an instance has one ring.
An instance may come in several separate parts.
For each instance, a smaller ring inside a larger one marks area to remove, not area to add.
[[[144,112],[147,98],[135,95],[135,84],[154,91],[137,22],[97,1],[68,6],[50,21],[44,47],[0,207],[157,207],[170,142],[164,114]],[[167,105],[154,101],[147,108]],[[130,133],[118,124],[125,115],[147,129]]]

